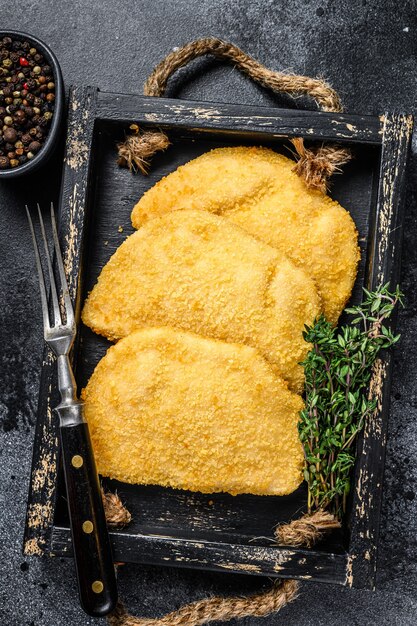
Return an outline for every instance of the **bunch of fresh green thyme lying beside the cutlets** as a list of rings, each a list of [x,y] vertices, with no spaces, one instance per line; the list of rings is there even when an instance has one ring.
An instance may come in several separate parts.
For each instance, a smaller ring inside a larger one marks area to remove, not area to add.
[[[361,305],[345,309],[349,323],[333,328],[321,316],[304,333],[313,346],[302,363],[306,405],[299,423],[308,509],[328,508],[339,517],[350,491],[357,435],[376,408],[368,391],[372,365],[380,350],[400,338],[384,324],[402,302],[399,288],[391,293],[387,284],[364,294]]]

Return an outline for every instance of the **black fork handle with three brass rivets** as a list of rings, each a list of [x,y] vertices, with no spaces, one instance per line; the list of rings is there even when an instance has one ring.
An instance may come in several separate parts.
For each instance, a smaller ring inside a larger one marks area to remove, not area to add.
[[[103,617],[116,606],[117,584],[88,425],[61,426],[61,445],[80,601]]]

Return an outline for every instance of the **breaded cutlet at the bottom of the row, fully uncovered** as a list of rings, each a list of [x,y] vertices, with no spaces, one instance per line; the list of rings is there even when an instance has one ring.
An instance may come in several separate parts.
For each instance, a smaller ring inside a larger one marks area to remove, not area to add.
[[[301,483],[303,401],[253,348],[142,329],[109,349],[83,397],[103,476],[259,495]]]

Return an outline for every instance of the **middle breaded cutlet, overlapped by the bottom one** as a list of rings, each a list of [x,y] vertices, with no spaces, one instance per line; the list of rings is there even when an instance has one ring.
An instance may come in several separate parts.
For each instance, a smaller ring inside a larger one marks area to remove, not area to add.
[[[302,331],[319,313],[313,281],[279,251],[223,217],[173,211],[118,248],[82,319],[112,340],[169,325],[251,345],[301,391]]]

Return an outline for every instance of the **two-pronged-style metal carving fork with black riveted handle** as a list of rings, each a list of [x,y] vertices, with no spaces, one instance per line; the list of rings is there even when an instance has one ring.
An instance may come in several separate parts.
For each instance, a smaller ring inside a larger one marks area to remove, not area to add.
[[[101,617],[117,603],[116,575],[107,532],[100,485],[91,448],[83,402],[77,399],[76,384],[69,352],[76,335],[76,324],[62,261],[54,208],[51,225],[61,291],[58,293],[45,225],[37,205],[40,230],[45,247],[54,322],[49,319],[48,298],[35,229],[28,207],[26,212],[32,233],[42,300],[44,338],[57,357],[58,388],[61,401],[55,408],[60,422],[61,449],[72,544],[81,606],[89,615]],[[59,296],[61,295],[61,305]],[[63,317],[61,313],[64,313]]]

